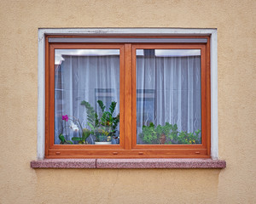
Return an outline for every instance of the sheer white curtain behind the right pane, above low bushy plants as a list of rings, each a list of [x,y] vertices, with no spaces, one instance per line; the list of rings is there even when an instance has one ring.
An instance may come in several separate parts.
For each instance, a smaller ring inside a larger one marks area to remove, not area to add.
[[[201,56],[137,56],[137,134],[150,122],[201,129]]]

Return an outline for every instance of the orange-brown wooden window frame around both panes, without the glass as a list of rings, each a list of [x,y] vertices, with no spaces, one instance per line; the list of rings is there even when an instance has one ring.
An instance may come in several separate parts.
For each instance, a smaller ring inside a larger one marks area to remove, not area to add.
[[[211,72],[210,37],[207,42],[172,43],[90,43],[49,42],[45,37],[45,158],[210,158],[211,154]],[[79,36],[81,37],[81,36]],[[84,36],[88,37],[88,36]],[[99,36],[92,36],[99,37]],[[100,36],[102,37],[102,36]],[[109,36],[108,36],[109,37]],[[113,38],[128,38],[113,36]],[[143,38],[152,38],[143,36]],[[137,38],[137,36],[129,36]],[[141,36],[140,36],[141,38]],[[154,38],[160,38],[155,36]],[[165,36],[165,38],[190,38]],[[192,38],[192,37],[191,37]],[[119,48],[120,50],[120,143],[54,144],[55,109],[55,48]],[[201,49],[201,144],[137,144],[137,93],[136,49],[137,48],[196,48]]]

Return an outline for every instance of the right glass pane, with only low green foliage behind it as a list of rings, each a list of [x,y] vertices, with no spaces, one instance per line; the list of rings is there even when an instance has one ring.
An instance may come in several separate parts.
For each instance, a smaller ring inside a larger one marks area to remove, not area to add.
[[[200,49],[137,49],[137,144],[201,144]]]

